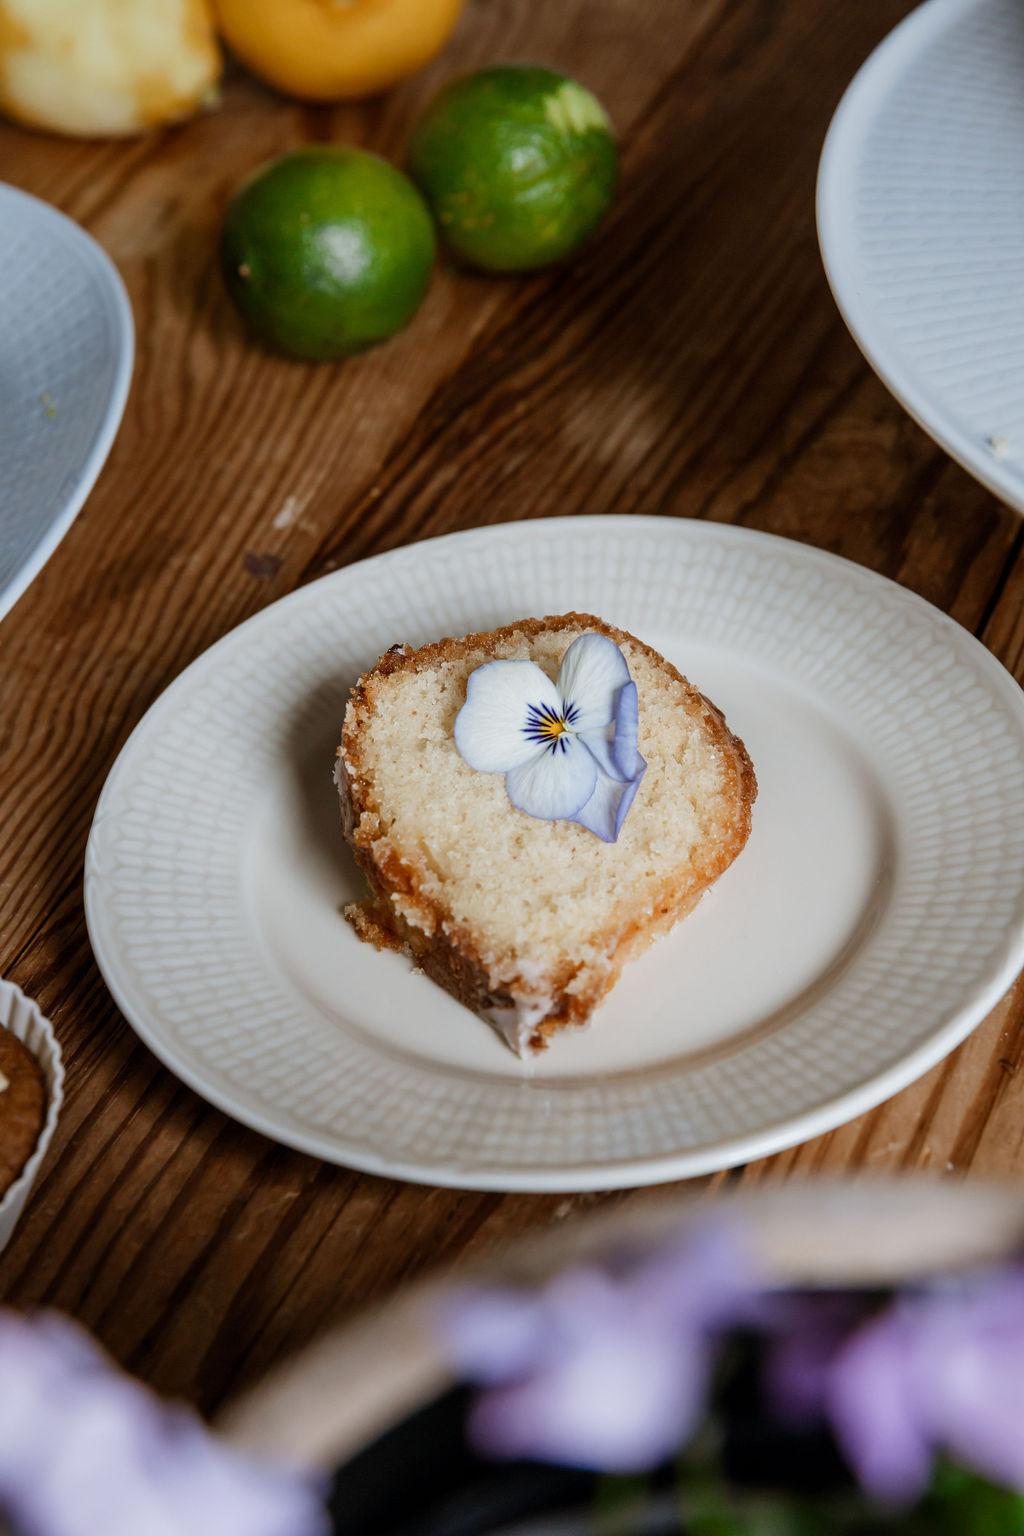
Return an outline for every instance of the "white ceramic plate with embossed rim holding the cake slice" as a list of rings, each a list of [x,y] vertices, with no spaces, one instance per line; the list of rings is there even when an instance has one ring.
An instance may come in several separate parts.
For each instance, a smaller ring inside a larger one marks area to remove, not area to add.
[[[396,641],[579,608],[720,703],[760,780],[748,848],[533,1075],[361,945],[332,783],[345,696]],[[154,705],[86,856],[92,945],[180,1077],[338,1163],[481,1189],[706,1172],[932,1066],[1024,963],[1024,694],[920,598],[743,528],[573,518],[327,576]]]

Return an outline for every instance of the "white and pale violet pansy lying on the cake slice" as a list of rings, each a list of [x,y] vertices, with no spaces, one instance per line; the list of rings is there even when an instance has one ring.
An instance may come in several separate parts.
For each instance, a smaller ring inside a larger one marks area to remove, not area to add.
[[[577,822],[608,843],[646,770],[637,736],[637,685],[626,659],[594,633],[573,641],[557,682],[536,662],[477,667],[454,722],[462,760],[479,773],[504,773],[517,811]]]

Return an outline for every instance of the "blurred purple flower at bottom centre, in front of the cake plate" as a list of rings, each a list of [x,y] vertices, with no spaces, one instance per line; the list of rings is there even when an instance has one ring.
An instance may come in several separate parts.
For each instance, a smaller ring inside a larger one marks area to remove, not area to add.
[[[688,1439],[715,1335],[757,1310],[732,1235],[708,1227],[617,1272],[567,1270],[540,1292],[462,1292],[442,1327],[454,1367],[487,1389],[470,1413],[484,1455],[626,1473]]]

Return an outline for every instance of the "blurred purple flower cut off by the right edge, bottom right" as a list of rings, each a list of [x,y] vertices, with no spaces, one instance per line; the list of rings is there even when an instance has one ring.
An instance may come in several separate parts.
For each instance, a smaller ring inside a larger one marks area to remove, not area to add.
[[[940,1452],[1024,1490],[1024,1272],[904,1295],[860,1326],[843,1298],[811,1298],[768,1389],[786,1418],[831,1422],[875,1498],[918,1498]]]

